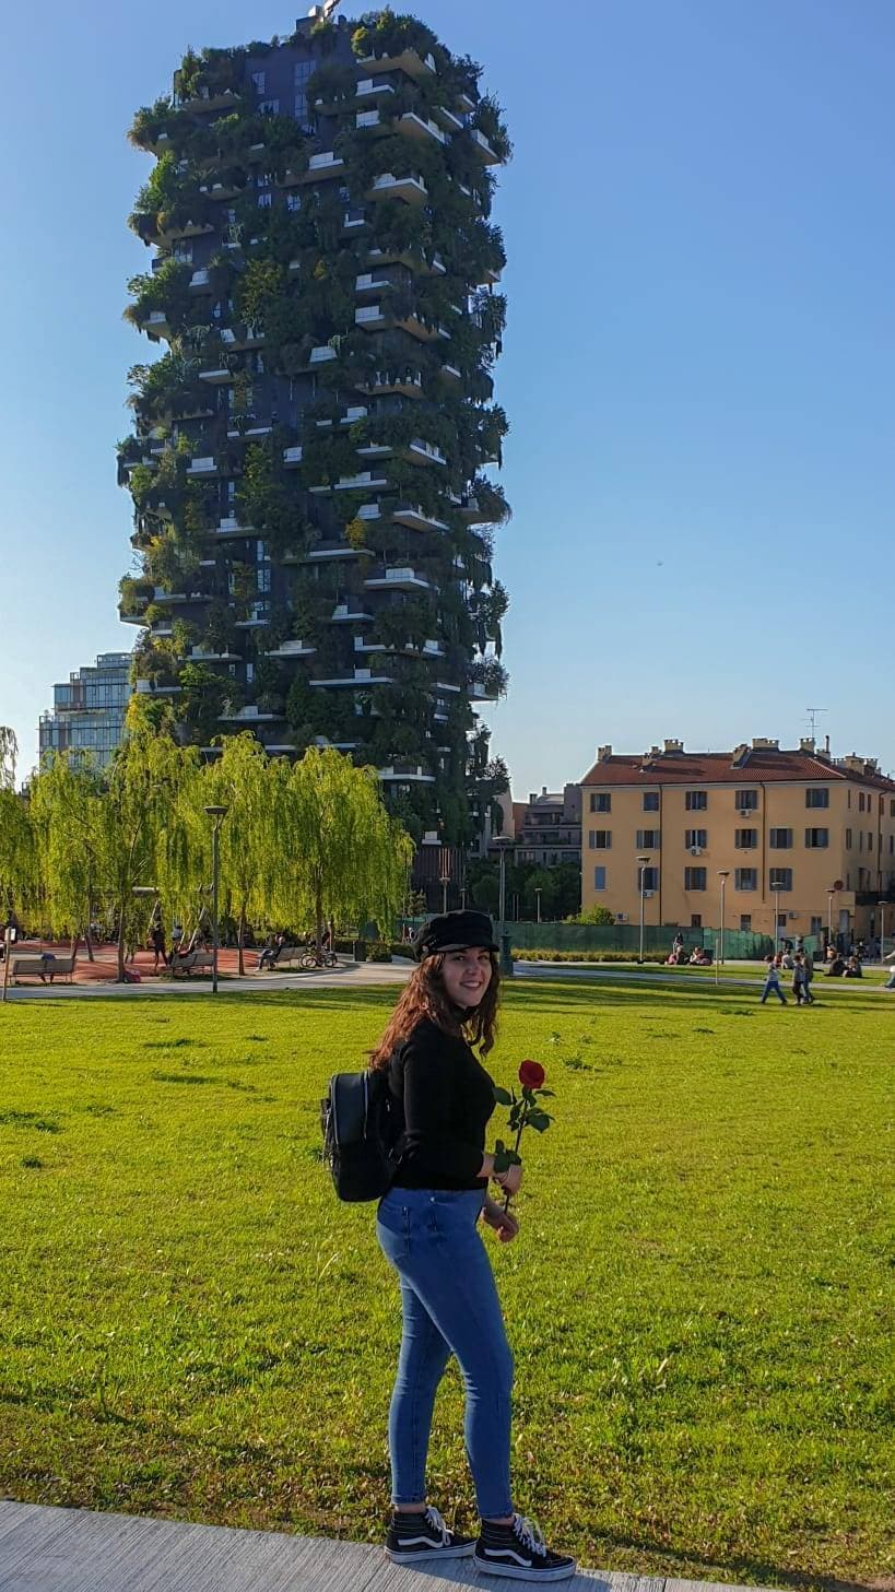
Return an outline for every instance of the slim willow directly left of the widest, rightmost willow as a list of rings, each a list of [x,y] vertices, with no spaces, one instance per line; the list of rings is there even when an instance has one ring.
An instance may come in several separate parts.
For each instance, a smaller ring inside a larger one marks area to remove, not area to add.
[[[220,759],[202,771],[202,788],[204,804],[228,809],[220,829],[220,882],[237,922],[244,974],[245,927],[269,920],[282,864],[274,818],[277,777],[264,748],[244,732],[226,737]]]

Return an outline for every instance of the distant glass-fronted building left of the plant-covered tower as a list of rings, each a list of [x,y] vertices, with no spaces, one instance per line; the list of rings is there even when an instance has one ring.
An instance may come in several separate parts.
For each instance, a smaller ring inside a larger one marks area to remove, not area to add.
[[[100,653],[53,686],[53,713],[41,713],[38,724],[41,759],[46,751],[89,751],[96,767],[107,767],[124,729],[131,662],[131,653]]]

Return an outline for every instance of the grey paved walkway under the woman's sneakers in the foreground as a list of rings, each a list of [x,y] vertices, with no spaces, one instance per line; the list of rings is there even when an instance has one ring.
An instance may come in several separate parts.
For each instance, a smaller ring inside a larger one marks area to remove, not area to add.
[[[0,1500],[0,1592],[502,1592],[471,1560],[392,1565],[377,1547]],[[569,1592],[733,1592],[709,1581],[588,1571]]]

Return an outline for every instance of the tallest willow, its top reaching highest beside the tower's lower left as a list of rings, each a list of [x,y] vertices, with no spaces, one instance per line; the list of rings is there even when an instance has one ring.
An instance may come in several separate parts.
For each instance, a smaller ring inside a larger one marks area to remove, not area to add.
[[[139,917],[135,888],[156,888],[162,909],[182,911],[196,877],[185,812],[197,794],[199,751],[174,742],[167,704],[131,697],[124,739],[102,801],[104,877],[118,915],[118,977],[124,981],[127,928]]]

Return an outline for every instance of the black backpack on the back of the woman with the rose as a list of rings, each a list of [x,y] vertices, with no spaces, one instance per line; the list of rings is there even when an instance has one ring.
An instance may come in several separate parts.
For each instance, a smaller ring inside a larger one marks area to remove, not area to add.
[[[382,1070],[334,1073],[320,1102],[323,1161],[339,1199],[381,1199],[398,1169],[398,1124]]]

